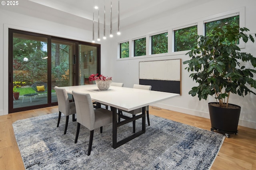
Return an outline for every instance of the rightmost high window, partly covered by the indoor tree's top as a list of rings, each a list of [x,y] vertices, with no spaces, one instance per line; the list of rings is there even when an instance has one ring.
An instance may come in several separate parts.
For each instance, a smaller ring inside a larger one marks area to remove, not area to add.
[[[214,27],[223,27],[224,25],[239,25],[239,16],[233,16],[230,18],[205,23],[205,35],[210,35]]]

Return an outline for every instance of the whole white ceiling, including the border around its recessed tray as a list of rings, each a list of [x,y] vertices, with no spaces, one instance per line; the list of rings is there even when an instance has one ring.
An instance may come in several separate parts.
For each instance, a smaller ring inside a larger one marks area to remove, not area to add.
[[[200,8],[200,5],[209,1],[214,0],[120,0],[120,27],[121,30],[129,29],[138,23],[186,12],[194,6]],[[20,0],[18,6],[0,6],[0,9],[92,31],[93,12],[98,21],[98,11],[93,10],[94,4],[100,6],[100,23],[104,21],[105,4],[106,25],[110,25],[110,2],[114,26],[118,20],[118,0]]]

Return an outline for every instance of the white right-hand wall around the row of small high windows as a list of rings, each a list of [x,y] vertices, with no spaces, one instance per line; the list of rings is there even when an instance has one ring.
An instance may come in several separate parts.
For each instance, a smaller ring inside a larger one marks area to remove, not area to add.
[[[230,5],[232,4],[232,5]],[[161,18],[147,20],[146,22],[135,25],[134,27],[122,28],[121,23],[121,36],[115,36],[111,43],[104,45],[108,49],[105,56],[108,58],[108,67],[102,70],[102,73],[113,77],[114,82],[123,82],[125,87],[132,87],[133,84],[139,83],[139,62],[140,61],[154,61],[165,59],[182,59],[182,62],[188,60],[185,52],[172,52],[171,45],[168,46],[168,53],[164,55],[147,55],[142,57],[130,57],[129,59],[118,58],[118,43],[129,41],[132,43],[133,39],[139,37],[148,37],[150,34],[168,30],[168,37],[171,37],[172,29],[198,23],[198,32],[203,33],[203,21],[211,18],[228,15],[234,12],[240,12],[240,24],[250,29],[250,33],[256,33],[256,23],[254,16],[256,1],[254,0],[214,0],[210,1],[197,8],[186,8],[186,10],[176,10],[175,14],[164,14]],[[170,39],[170,41],[172,41]],[[247,43],[246,48],[242,51],[251,53],[256,56],[256,43]],[[130,48],[131,50],[131,48]],[[148,49],[147,49],[148,50]],[[164,109],[197,115],[200,117],[209,118],[208,102],[215,102],[214,98],[209,97],[208,100],[199,101],[197,97],[192,97],[188,94],[190,89],[196,85],[195,82],[189,78],[187,70],[184,70],[186,65],[182,64],[182,96],[166,100],[164,102],[155,104],[155,106]],[[164,74],[164,73],[163,73]],[[256,92],[255,89],[252,91]],[[231,95],[229,102],[237,104],[242,107],[240,114],[239,125],[251,127],[256,129],[256,96],[248,95],[244,98],[240,96]]]

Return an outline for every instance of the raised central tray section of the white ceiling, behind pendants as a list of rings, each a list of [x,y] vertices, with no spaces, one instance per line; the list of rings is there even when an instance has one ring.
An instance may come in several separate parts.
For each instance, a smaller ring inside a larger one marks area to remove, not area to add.
[[[29,0],[43,6],[55,9],[55,12],[62,11],[74,16],[92,21],[94,17],[98,20],[98,11],[93,10],[94,4],[100,6],[100,23],[103,23],[104,4],[106,8],[106,25],[110,24],[110,2],[112,2],[112,20],[117,22],[118,0]],[[120,22],[123,26],[142,21],[164,14],[165,12],[176,11],[179,8],[198,5],[209,0],[120,0]],[[28,6],[27,6],[28,7]],[[37,8],[39,8],[38,6]],[[31,6],[35,8],[35,6]],[[39,10],[39,9],[38,9]],[[49,11],[47,11],[49,12]],[[54,12],[54,10],[52,10]]]

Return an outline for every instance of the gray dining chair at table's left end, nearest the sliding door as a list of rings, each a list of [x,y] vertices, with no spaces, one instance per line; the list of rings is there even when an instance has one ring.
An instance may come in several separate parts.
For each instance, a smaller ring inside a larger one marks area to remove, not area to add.
[[[55,86],[54,90],[57,95],[58,109],[59,109],[59,118],[58,118],[57,127],[59,127],[60,125],[60,117],[61,117],[61,113],[63,113],[66,116],[66,124],[64,129],[64,135],[65,135],[68,128],[69,115],[73,115],[76,113],[76,106],[75,106],[75,102],[69,102],[68,94],[65,89]]]

